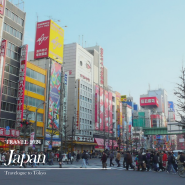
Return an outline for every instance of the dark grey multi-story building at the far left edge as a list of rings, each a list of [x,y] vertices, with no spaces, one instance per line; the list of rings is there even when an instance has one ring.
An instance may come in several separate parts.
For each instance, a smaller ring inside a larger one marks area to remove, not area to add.
[[[1,87],[1,116],[0,127],[15,128],[17,92],[20,68],[20,47],[23,45],[26,13],[10,1],[0,11],[0,38],[7,40],[5,65],[0,71]],[[3,9],[3,11],[2,11]]]

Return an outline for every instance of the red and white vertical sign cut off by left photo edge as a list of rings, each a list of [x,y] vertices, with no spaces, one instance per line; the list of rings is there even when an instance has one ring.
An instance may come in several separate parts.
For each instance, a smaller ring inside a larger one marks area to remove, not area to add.
[[[1,53],[0,53],[0,99],[2,99],[2,91],[3,91],[3,80],[4,80],[4,66],[6,59],[6,47],[7,40],[3,40],[1,42]],[[1,113],[1,103],[0,103],[0,113]]]

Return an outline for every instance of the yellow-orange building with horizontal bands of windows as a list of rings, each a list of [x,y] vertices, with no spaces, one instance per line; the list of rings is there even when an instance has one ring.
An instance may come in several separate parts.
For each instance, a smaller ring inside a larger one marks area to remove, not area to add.
[[[35,124],[35,114],[38,108],[36,137],[42,142],[41,145],[35,145],[37,150],[43,150],[46,85],[47,70],[27,62],[23,119]]]

